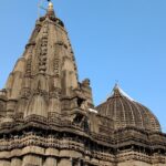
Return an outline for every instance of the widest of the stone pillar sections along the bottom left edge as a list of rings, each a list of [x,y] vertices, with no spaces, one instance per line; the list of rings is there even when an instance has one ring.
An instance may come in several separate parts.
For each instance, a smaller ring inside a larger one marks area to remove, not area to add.
[[[33,155],[27,155],[23,157],[22,166],[29,166],[32,164],[37,166],[43,166],[42,158],[40,156],[33,156]]]

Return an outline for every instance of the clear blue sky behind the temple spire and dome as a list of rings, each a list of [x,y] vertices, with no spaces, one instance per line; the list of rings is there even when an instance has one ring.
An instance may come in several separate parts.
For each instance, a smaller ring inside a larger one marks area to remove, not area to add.
[[[118,82],[152,110],[166,132],[166,0],[52,1],[69,32],[80,81],[91,80],[95,105],[106,101]],[[28,43],[38,3],[0,3],[0,89]]]

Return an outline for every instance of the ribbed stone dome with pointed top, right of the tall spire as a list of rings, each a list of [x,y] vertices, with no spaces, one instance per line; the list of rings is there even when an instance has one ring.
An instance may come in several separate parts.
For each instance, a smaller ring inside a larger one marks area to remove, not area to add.
[[[160,132],[156,116],[145,106],[132,100],[117,85],[108,100],[96,107],[98,113],[114,121],[114,128],[136,127]]]

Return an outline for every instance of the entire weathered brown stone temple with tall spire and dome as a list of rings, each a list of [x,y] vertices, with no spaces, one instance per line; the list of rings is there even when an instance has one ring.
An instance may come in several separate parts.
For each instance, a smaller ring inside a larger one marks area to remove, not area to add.
[[[93,105],[50,2],[0,91],[0,166],[166,166],[155,115],[116,85]]]

